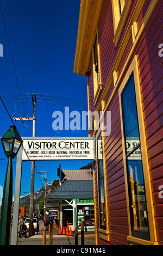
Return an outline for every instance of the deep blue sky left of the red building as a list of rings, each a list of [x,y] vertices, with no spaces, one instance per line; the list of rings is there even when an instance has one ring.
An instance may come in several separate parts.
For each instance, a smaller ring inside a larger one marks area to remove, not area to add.
[[[87,131],[56,132],[52,129],[54,111],[64,112],[65,106],[70,107],[70,112],[87,111],[86,77],[73,73],[80,0],[2,0],[0,3],[16,71],[15,74],[0,12],[0,44],[3,45],[0,96],[11,117],[33,117],[31,93],[36,93],[36,137],[88,136]],[[0,136],[3,136],[12,122],[2,102],[0,114]],[[32,121],[25,124],[32,130]],[[22,137],[32,136],[21,121],[15,125]],[[2,145],[0,159],[0,186],[3,186],[7,158]],[[80,168],[87,162],[37,161],[36,170],[46,171],[47,182],[51,182],[58,179],[59,164],[62,168]],[[14,186],[15,169],[16,159],[13,160]],[[30,173],[31,162],[23,162],[21,196],[30,192]],[[43,179],[41,181],[44,184]],[[40,187],[39,176],[35,174],[34,190]]]

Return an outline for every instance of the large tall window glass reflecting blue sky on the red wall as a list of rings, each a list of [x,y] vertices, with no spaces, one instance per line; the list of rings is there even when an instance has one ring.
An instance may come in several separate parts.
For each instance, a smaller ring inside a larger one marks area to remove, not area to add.
[[[133,72],[122,90],[121,102],[131,234],[140,239],[150,240]]]

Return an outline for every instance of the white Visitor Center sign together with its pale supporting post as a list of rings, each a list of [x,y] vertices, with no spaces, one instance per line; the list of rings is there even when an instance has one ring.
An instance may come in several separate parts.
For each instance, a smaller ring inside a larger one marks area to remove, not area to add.
[[[17,154],[11,245],[17,245],[22,161],[95,160],[94,137],[22,137]]]

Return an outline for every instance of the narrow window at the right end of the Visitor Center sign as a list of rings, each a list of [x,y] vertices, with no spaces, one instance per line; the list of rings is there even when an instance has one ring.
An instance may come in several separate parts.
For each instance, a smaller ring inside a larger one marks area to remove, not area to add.
[[[99,197],[99,225],[106,230],[106,205],[104,193],[104,173],[102,157],[102,137],[97,138],[97,166],[98,166],[98,197]]]

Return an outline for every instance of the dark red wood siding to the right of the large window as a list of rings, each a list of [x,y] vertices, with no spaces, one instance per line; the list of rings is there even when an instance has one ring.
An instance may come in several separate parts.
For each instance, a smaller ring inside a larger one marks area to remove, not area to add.
[[[162,9],[162,1],[159,1],[137,46],[156,233],[160,245],[163,244],[163,199],[159,198],[159,186],[163,185],[163,78],[158,46],[163,42]]]

